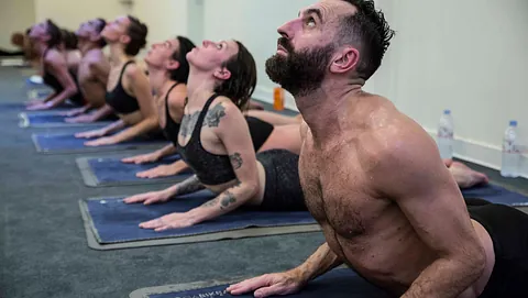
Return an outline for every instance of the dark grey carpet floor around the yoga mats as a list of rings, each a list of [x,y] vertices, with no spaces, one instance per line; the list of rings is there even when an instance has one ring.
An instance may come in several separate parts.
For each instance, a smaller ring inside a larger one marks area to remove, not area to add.
[[[0,102],[25,98],[22,75],[0,67]],[[320,233],[308,233],[92,251],[79,199],[164,186],[85,187],[75,164],[80,155],[37,154],[30,135],[46,130],[18,128],[16,113],[0,111],[0,297],[128,297],[143,287],[260,275],[296,266],[323,242]],[[508,181],[527,186],[524,179]]]

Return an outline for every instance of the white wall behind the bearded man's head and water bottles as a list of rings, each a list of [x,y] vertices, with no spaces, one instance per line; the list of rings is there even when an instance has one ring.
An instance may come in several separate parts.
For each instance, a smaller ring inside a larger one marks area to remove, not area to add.
[[[258,67],[254,97],[272,101],[275,85],[264,64],[275,52],[276,29],[315,1],[205,0],[205,37],[243,42]],[[442,110],[451,109],[457,156],[498,168],[510,119],[528,143],[528,1],[394,2],[376,1],[397,35],[365,89],[391,99],[430,133]],[[287,107],[295,107],[292,98]],[[528,176],[526,159],[522,173]]]

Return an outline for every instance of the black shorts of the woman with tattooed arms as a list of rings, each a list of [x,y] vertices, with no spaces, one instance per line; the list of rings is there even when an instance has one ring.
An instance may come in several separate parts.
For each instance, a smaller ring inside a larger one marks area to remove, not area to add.
[[[299,179],[299,155],[287,150],[258,153],[266,172],[266,187],[260,210],[307,211]]]

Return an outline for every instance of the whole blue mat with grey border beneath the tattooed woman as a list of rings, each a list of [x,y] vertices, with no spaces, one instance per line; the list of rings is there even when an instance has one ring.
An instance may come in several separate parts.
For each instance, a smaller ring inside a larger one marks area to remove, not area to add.
[[[88,246],[102,251],[320,231],[308,211],[264,212],[242,208],[189,228],[163,232],[139,228],[141,222],[186,212],[213,197],[202,190],[151,206],[127,205],[122,201],[124,197],[80,200]]]

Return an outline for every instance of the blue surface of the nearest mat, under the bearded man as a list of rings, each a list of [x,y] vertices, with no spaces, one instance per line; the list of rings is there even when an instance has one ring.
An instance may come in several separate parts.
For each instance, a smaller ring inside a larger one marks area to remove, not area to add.
[[[226,291],[229,285],[212,286],[207,288],[172,291],[163,294],[147,294],[148,298],[176,298],[176,297],[240,297],[250,298],[253,294],[231,296]],[[177,288],[177,286],[176,286]],[[135,296],[132,296],[135,298]],[[140,296],[138,296],[140,297]],[[275,297],[275,296],[274,296]],[[292,298],[388,298],[391,297],[381,288],[370,284],[364,278],[349,268],[330,271],[311,280],[298,294],[288,295]]]

